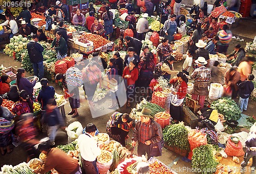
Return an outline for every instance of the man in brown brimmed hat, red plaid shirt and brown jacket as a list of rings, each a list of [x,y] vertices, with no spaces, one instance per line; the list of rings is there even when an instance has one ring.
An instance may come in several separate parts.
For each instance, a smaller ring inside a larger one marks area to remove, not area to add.
[[[141,112],[136,113],[140,116],[140,121],[135,125],[132,138],[133,146],[138,141],[138,156],[147,154],[147,159],[152,157],[150,145],[159,143],[163,137],[161,126],[154,121],[150,113],[151,110],[145,107]]]

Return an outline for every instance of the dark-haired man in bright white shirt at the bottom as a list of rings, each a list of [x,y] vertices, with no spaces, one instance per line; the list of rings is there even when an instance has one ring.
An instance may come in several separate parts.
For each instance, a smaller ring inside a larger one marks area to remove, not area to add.
[[[100,155],[103,144],[97,145],[97,141],[94,136],[97,132],[97,127],[93,123],[89,123],[86,126],[86,133],[78,137],[77,143],[81,154],[81,162],[83,169],[86,173],[98,174],[98,168],[96,165],[97,156]]]

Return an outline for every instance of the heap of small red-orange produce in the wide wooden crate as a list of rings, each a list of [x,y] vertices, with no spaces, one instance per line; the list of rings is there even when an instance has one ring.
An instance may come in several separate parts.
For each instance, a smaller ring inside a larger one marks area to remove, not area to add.
[[[79,39],[80,39],[80,37],[83,37],[83,39],[81,39],[81,41],[85,40],[85,39],[92,41],[94,49],[100,48],[110,42],[108,39],[105,39],[104,37],[102,37],[98,34],[86,33],[86,34],[82,34],[82,36],[79,36]]]

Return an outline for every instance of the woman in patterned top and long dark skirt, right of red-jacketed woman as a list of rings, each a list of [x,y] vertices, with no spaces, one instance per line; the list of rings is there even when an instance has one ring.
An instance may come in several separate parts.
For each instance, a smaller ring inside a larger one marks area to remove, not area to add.
[[[151,52],[147,52],[145,56],[140,60],[138,64],[139,77],[138,77],[138,87],[141,89],[141,94],[147,93],[147,88],[153,79],[153,72],[155,68],[154,55]]]

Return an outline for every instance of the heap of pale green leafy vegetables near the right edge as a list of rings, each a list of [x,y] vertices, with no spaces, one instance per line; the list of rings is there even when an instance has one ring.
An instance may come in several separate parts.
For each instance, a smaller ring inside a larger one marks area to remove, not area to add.
[[[211,103],[211,108],[223,114],[226,120],[239,120],[241,111],[237,103],[231,98],[221,98]]]

